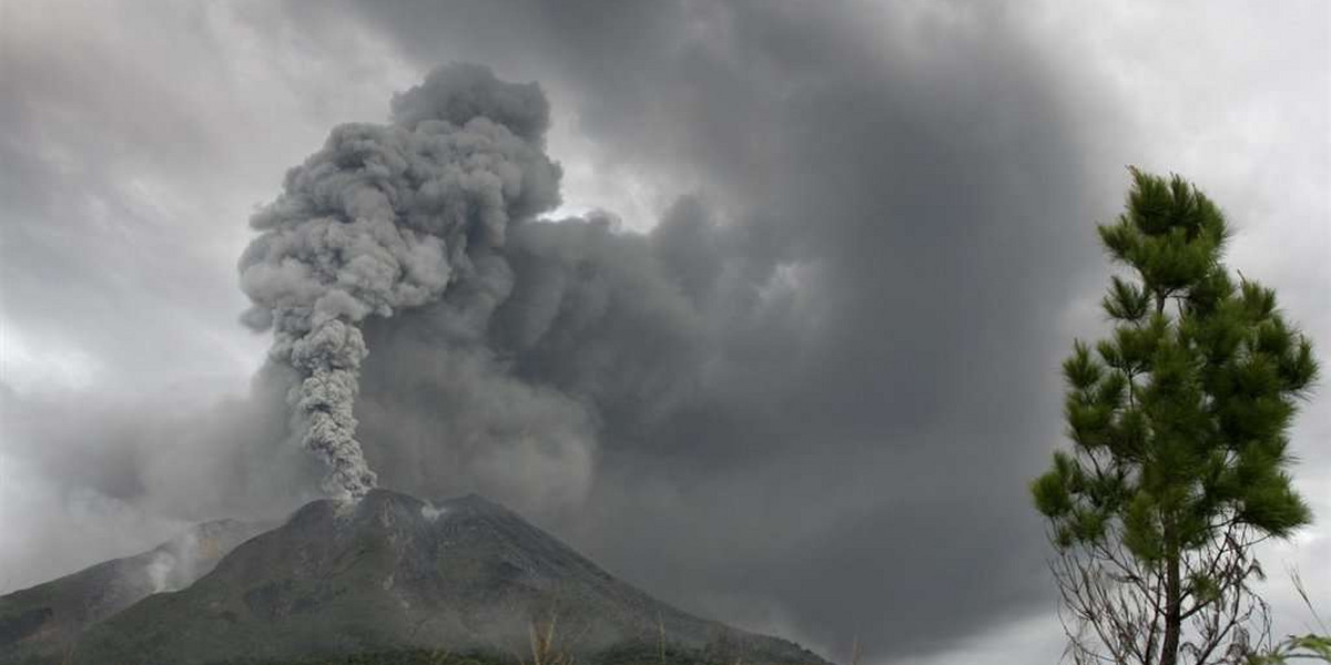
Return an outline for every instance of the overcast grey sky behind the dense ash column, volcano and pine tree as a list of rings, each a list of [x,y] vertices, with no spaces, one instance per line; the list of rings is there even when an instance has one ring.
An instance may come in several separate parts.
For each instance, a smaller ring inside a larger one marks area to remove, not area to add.
[[[544,90],[572,219],[518,234],[483,336],[367,325],[381,481],[483,491],[832,657],[1054,658],[1026,481],[1105,330],[1125,166],[1219,202],[1230,266],[1331,358],[1328,7],[0,1],[0,592],[313,496],[257,479],[309,469],[238,323],[246,222],[333,126],[467,61]],[[1291,567],[1331,613],[1324,384],[1278,630],[1310,628]]]

